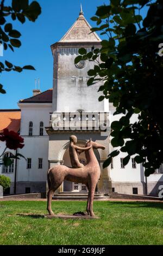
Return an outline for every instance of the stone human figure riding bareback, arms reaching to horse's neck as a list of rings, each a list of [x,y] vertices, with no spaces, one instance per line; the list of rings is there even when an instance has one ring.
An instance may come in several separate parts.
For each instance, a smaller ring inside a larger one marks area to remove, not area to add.
[[[91,146],[90,147],[79,147],[76,144],[77,144],[77,137],[74,135],[71,135],[70,136],[70,146],[69,146],[71,165],[72,165],[72,168],[81,168],[84,165],[79,162],[77,152],[81,153],[86,150],[89,150],[91,148]]]

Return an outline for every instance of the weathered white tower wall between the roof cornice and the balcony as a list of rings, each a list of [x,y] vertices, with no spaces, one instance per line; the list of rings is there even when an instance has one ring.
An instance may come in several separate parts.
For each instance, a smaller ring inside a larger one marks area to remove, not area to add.
[[[81,46],[82,47],[82,46]],[[98,102],[99,96],[102,92],[98,92],[98,88],[101,83],[97,83],[92,86],[87,86],[87,80],[89,76],[87,75],[88,70],[93,69],[95,63],[86,61],[86,66],[84,68],[77,68],[74,64],[74,59],[77,55],[58,55],[54,58],[54,64],[58,64],[58,79],[54,79],[53,97],[57,93],[57,109],[55,109],[55,104],[53,104],[53,110],[65,111],[68,107],[69,111],[73,112],[78,109],[83,109],[85,111],[104,111],[104,101]],[[74,76],[74,78],[72,78]],[[79,78],[83,80],[80,81]],[[56,97],[56,95],[55,95]]]

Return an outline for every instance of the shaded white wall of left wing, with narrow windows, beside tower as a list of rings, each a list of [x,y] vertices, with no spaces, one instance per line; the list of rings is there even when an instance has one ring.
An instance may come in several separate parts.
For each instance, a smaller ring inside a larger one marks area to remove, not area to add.
[[[48,140],[45,127],[49,126],[49,113],[52,104],[21,103],[21,130],[24,147],[20,151],[26,158],[32,158],[32,168],[27,169],[27,162],[23,158],[18,161],[18,182],[45,182],[48,170]],[[29,122],[33,122],[33,136],[28,136]],[[40,122],[43,122],[43,136],[39,135]],[[43,158],[42,169],[38,168],[38,158]]]

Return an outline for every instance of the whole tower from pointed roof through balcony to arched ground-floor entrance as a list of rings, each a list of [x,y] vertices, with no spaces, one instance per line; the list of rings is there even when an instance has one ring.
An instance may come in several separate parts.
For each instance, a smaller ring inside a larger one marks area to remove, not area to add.
[[[86,21],[81,6],[77,21],[60,41],[51,45],[54,58],[53,113],[51,113],[50,125],[46,128],[49,135],[48,160],[49,167],[58,164],[71,166],[68,147],[72,134],[77,136],[78,145],[82,147],[90,138],[103,144],[105,150],[95,152],[102,169],[97,191],[100,194],[107,194],[111,189],[109,168],[103,169],[102,164],[109,154],[109,137],[108,134],[101,135],[103,131],[99,126],[99,119],[102,114],[102,123],[105,124],[109,104],[105,101],[98,102],[99,96],[102,95],[98,92],[101,84],[87,86],[89,80],[87,72],[94,68],[95,63],[80,61],[74,64],[80,48],[90,52],[92,47],[95,49],[101,47],[101,39],[95,32],[91,33],[90,29],[91,26]],[[73,120],[76,120],[75,129],[71,126]],[[79,157],[79,160],[85,163],[85,154],[82,153]],[[84,189],[81,184],[64,181],[58,192],[77,192],[77,190],[81,192]]]

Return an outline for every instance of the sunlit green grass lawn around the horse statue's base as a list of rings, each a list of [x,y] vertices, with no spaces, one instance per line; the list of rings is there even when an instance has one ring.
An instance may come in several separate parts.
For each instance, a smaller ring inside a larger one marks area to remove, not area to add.
[[[53,201],[55,213],[85,210],[83,201]],[[46,219],[46,201],[0,201],[0,245],[162,245],[163,204],[95,201],[100,219]]]

